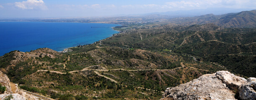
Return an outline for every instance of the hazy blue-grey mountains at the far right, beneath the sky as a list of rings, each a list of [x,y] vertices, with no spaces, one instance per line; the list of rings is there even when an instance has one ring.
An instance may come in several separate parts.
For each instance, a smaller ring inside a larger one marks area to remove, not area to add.
[[[207,14],[196,17],[171,18],[170,21],[171,23],[181,25],[203,25],[207,23],[214,23],[226,28],[253,28],[256,27],[256,10],[242,11],[240,13],[228,13],[224,15]]]

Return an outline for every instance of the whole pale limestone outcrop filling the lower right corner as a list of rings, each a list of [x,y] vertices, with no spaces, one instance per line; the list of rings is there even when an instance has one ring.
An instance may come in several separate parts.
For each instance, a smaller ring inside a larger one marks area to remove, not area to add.
[[[160,100],[237,100],[238,96],[242,100],[255,100],[255,81],[256,78],[246,80],[228,71],[218,71],[169,87]]]

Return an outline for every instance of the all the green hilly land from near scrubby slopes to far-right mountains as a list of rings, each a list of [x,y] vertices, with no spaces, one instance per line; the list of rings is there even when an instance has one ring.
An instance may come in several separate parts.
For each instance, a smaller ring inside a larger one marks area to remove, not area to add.
[[[0,57],[0,70],[57,100],[155,100],[218,70],[256,77],[255,10],[172,21],[124,23],[114,28],[119,34],[69,52],[12,51]]]

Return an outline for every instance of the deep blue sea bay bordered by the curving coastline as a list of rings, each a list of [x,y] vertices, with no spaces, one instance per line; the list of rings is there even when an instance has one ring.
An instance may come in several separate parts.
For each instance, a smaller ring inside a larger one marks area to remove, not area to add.
[[[0,56],[13,50],[22,52],[48,47],[62,51],[91,44],[118,31],[115,24],[0,22]],[[93,28],[92,28],[93,27]]]

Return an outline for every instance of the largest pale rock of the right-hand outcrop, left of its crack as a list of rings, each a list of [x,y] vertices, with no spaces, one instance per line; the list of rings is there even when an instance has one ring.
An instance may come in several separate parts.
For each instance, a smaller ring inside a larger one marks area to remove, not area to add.
[[[215,74],[202,75],[185,84],[167,88],[161,100],[235,100],[235,93]]]

